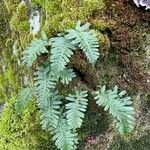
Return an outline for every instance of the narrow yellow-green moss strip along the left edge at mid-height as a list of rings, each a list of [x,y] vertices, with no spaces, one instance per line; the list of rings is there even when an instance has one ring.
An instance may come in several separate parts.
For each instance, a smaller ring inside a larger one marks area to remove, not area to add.
[[[18,93],[20,89],[20,78],[18,74],[19,67],[15,62],[14,55],[9,47],[12,46],[12,42],[8,39],[5,49],[3,49],[0,62],[0,90],[2,101],[7,101],[11,95]]]

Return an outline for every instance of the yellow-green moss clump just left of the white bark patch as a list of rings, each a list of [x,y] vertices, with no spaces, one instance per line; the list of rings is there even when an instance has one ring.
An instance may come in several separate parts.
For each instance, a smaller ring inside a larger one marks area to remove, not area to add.
[[[11,17],[10,27],[12,30],[18,32],[29,31],[28,20],[28,8],[21,2]]]

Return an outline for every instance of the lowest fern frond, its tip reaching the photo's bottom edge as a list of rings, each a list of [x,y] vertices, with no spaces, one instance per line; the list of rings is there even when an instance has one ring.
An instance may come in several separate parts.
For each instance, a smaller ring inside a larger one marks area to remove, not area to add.
[[[60,150],[75,150],[78,143],[77,134],[67,125],[67,121],[61,118],[58,127],[51,132],[54,134],[53,140]]]

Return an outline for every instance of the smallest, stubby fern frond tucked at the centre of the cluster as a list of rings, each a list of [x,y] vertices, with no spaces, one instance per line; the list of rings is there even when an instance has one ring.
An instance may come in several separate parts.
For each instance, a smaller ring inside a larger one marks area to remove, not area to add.
[[[69,84],[74,77],[76,77],[76,75],[72,69],[64,69],[60,72],[60,82],[63,84]]]

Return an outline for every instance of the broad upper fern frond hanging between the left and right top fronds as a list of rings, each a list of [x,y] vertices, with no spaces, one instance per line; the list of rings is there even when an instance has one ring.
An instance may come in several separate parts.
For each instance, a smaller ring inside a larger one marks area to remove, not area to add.
[[[69,40],[64,37],[56,37],[51,39],[51,68],[54,72],[58,73],[65,69],[69,58],[73,55],[73,50],[76,48]]]

